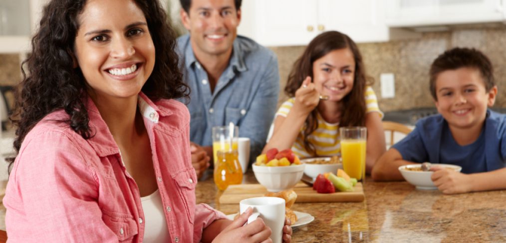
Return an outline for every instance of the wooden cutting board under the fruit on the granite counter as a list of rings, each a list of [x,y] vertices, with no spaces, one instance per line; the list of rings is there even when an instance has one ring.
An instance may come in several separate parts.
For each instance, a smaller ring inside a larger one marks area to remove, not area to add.
[[[334,192],[334,193],[317,193],[312,187],[298,183],[293,188],[297,193],[296,203],[335,203],[347,201],[363,201],[364,190],[362,183],[355,185],[355,191]],[[220,197],[220,204],[238,204],[245,198],[263,196],[267,193],[267,189],[260,184],[240,184],[230,185]]]

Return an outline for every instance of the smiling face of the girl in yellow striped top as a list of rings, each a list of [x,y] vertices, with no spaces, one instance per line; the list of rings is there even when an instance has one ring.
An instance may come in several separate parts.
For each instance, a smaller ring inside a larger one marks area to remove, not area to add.
[[[313,83],[328,101],[341,101],[353,89],[355,58],[348,48],[333,50],[313,62]]]

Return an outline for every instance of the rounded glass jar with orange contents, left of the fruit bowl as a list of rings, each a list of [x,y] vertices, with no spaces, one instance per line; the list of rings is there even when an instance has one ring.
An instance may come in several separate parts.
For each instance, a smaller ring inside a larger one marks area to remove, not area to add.
[[[242,168],[237,150],[216,151],[214,179],[218,189],[225,190],[229,185],[241,184]]]

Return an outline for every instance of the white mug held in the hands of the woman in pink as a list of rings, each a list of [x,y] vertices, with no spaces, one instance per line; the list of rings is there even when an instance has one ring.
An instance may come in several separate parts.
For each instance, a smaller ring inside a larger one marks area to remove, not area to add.
[[[242,214],[248,207],[253,209],[252,217],[260,217],[264,220],[267,227],[272,231],[271,239],[273,243],[283,241],[283,226],[285,220],[285,200],[280,197],[261,196],[243,199],[239,202],[239,212]],[[255,213],[259,213],[257,215]],[[248,222],[253,221],[249,220]]]

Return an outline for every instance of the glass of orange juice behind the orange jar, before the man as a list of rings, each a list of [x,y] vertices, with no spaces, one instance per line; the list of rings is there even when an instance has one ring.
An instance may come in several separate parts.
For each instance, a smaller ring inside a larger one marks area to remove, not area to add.
[[[213,127],[213,161],[218,161],[217,157],[218,151],[230,150],[230,144],[232,144],[232,150],[237,150],[238,141],[239,141],[239,127],[234,126],[234,133],[232,135],[232,138],[230,138],[229,126]]]

